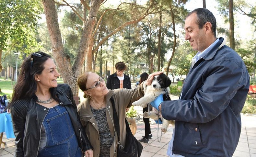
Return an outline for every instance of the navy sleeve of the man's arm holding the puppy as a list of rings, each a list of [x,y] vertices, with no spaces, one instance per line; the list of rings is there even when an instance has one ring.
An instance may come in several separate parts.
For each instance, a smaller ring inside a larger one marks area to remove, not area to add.
[[[228,107],[237,91],[247,86],[249,75],[247,70],[245,71],[234,61],[220,60],[216,64],[205,72],[203,85],[196,91],[193,99],[162,102],[163,118],[206,123],[216,118]],[[243,105],[240,103],[237,107],[242,108]]]

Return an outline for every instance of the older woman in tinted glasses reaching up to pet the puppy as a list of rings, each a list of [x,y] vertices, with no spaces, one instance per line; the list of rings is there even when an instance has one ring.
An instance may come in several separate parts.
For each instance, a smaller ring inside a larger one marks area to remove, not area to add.
[[[78,105],[78,114],[85,132],[93,146],[93,155],[100,157],[115,157],[118,146],[116,130],[114,129],[113,108],[111,97],[119,117],[120,143],[125,145],[125,109],[144,95],[143,84],[150,85],[153,76],[162,72],[150,74],[148,80],[135,89],[114,89],[106,87],[104,79],[93,72],[83,73],[78,77],[78,86],[87,98]]]

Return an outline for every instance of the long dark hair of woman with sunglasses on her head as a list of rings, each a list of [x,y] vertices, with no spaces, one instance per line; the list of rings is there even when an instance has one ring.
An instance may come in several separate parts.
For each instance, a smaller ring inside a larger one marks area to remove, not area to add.
[[[33,55],[34,53],[38,53],[39,56]],[[51,56],[41,51],[37,51],[34,53],[31,54],[32,60],[31,55],[29,55],[27,58],[25,58],[24,62],[20,67],[20,73],[13,90],[13,97],[10,106],[16,100],[32,98],[32,96],[37,91],[35,75],[42,73],[42,71],[44,70],[45,61],[51,58]]]

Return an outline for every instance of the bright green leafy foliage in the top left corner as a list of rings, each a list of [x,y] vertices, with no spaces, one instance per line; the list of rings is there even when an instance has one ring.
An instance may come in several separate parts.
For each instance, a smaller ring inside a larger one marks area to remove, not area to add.
[[[5,50],[9,37],[24,44],[31,44],[29,32],[36,27],[41,13],[39,0],[1,0],[0,49]]]

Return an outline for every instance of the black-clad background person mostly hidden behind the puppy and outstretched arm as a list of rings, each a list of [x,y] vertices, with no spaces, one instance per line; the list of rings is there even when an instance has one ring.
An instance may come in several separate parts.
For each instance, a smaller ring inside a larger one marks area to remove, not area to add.
[[[148,78],[148,74],[147,73],[142,73],[140,75],[140,82],[139,82],[139,84],[141,84],[143,81],[147,80],[147,78]],[[147,107],[143,108],[143,113],[144,112],[148,112],[148,105],[149,104],[147,104]],[[140,139],[138,141],[144,142],[144,143],[149,143],[149,139],[152,138],[152,134],[151,134],[151,130],[150,130],[149,118],[143,117],[143,121],[145,123],[145,136],[142,136],[142,139]]]

